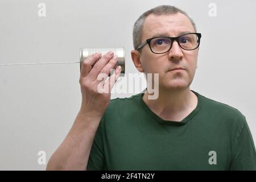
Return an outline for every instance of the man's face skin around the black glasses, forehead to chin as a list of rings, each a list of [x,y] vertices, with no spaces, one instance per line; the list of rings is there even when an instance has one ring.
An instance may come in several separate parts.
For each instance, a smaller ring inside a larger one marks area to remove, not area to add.
[[[184,32],[195,32],[187,16],[148,15],[142,29],[142,42],[154,36],[179,36]],[[177,42],[170,51],[163,54],[151,52],[148,45],[142,48],[141,64],[144,73],[159,73],[159,89],[184,90],[189,87],[195,76],[199,49],[187,51],[181,49]],[[170,71],[177,67],[185,70]]]

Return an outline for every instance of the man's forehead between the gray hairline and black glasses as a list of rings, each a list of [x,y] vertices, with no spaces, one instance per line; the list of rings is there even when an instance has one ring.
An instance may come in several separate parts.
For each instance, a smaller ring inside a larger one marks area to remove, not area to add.
[[[142,41],[154,36],[179,36],[188,32],[195,32],[195,29],[184,14],[150,14],[143,24]]]

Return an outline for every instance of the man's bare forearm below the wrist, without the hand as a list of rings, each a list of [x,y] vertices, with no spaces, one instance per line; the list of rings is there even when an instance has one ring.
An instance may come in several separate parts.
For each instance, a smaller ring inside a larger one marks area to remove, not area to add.
[[[49,159],[46,169],[85,170],[100,119],[79,111],[71,130]]]

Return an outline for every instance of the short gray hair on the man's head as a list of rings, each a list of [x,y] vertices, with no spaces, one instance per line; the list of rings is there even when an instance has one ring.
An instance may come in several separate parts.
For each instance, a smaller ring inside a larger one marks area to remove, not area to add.
[[[139,16],[139,18],[134,23],[134,27],[133,27],[133,47],[134,47],[134,49],[137,49],[139,47],[139,45],[141,44],[142,27],[143,27],[145,19],[147,18],[148,15],[150,15],[150,14],[154,14],[154,15],[172,14],[172,15],[174,15],[177,13],[182,13],[185,16],[187,16],[196,31],[195,22],[193,21],[193,19],[191,17],[189,17],[189,15],[187,13],[185,13],[185,11],[178,9],[175,6],[169,6],[169,5],[157,6],[153,9],[150,9],[150,10],[144,12],[141,16]],[[139,51],[141,51],[141,49],[139,49]]]

